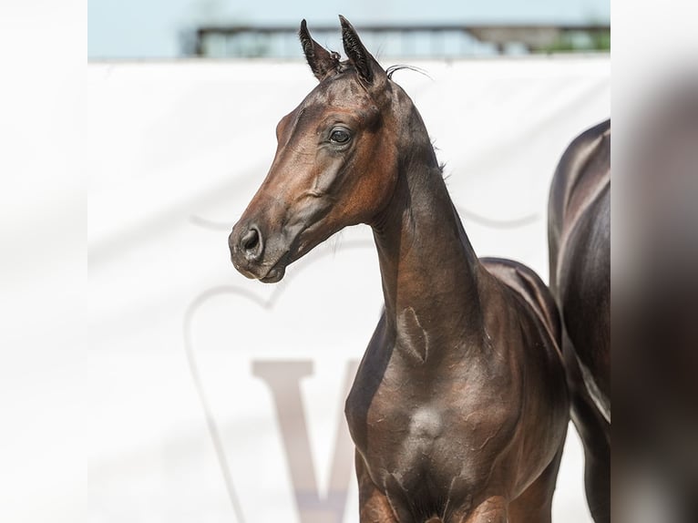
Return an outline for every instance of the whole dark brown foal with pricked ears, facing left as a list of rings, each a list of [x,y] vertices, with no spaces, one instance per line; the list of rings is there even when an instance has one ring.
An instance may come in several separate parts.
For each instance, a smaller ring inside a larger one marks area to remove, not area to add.
[[[346,401],[362,523],[549,521],[569,404],[552,296],[478,260],[412,100],[341,17],[347,61],[301,25],[320,81],[229,238],[262,282],[372,227],[385,311]]]

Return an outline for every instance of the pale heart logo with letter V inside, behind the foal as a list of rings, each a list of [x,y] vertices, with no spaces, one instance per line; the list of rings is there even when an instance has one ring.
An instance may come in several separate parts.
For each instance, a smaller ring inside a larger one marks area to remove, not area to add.
[[[365,282],[366,270],[377,277],[377,267],[365,268],[375,263],[372,241],[328,253],[298,262],[266,296],[261,283],[260,292],[217,286],[185,314],[191,375],[240,523],[293,513],[300,523],[343,523],[355,489],[344,398],[382,294]],[[328,272],[332,280],[318,282]],[[316,471],[329,471],[326,481]]]

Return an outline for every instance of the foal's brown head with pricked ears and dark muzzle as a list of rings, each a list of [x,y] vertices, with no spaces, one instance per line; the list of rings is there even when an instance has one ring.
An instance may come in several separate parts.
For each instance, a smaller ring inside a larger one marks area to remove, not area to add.
[[[287,265],[334,232],[375,220],[395,188],[398,106],[406,96],[340,19],[346,61],[301,24],[303,52],[320,83],[279,122],[269,174],[232,229],[232,263],[249,278],[278,282]]]

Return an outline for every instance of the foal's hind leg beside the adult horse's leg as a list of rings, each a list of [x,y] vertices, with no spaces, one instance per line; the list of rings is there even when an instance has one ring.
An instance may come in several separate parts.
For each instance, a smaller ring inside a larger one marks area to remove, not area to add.
[[[509,504],[510,523],[550,523],[552,495],[558,479],[559,462],[562,458],[564,439],[549,466]]]

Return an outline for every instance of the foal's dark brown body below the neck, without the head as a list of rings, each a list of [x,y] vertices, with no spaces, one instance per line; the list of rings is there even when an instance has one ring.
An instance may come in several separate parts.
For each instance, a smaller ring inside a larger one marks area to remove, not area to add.
[[[459,307],[434,307],[446,316],[421,321],[409,308],[386,310],[378,323],[346,402],[362,522],[549,520],[566,395],[550,379],[560,372],[554,345],[540,340],[549,336],[542,318],[557,312],[526,268],[487,260],[480,271],[488,297],[479,333]],[[444,274],[432,269],[416,287],[431,277]],[[529,303],[515,288],[545,301]]]

